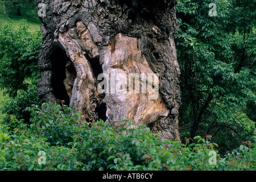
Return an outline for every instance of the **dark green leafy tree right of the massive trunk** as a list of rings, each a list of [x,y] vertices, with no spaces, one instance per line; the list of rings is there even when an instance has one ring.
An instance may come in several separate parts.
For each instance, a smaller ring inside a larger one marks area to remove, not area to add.
[[[208,15],[210,3],[217,16]],[[178,1],[181,138],[212,135],[223,153],[252,136],[255,8],[255,0]]]

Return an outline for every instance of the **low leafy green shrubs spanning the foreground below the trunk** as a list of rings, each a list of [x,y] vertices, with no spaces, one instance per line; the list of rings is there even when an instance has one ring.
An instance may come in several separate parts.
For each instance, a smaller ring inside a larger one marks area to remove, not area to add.
[[[114,130],[102,121],[82,123],[79,113],[65,105],[43,104],[42,108],[29,108],[31,125],[11,117],[10,123],[0,126],[0,169],[255,170],[254,142],[243,142],[221,158],[209,135],[180,144],[160,139],[144,125]],[[43,162],[39,151],[46,152],[44,164],[38,163]],[[212,154],[216,164],[210,163]]]

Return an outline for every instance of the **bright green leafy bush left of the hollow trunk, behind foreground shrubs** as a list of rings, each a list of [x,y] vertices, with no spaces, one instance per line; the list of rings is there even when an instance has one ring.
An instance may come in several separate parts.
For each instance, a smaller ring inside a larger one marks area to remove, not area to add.
[[[0,28],[0,87],[6,95],[1,110],[7,114],[5,120],[10,114],[27,119],[30,114],[26,107],[39,104],[36,82],[41,45],[42,34],[30,32],[25,20],[20,22],[18,30],[9,22]]]

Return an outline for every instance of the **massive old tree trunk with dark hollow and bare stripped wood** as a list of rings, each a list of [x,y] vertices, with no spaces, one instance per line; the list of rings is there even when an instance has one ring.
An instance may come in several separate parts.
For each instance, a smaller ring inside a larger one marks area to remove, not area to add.
[[[64,100],[84,121],[102,119],[114,129],[134,119],[180,140],[176,0],[35,2],[46,5],[38,64],[42,102]]]

